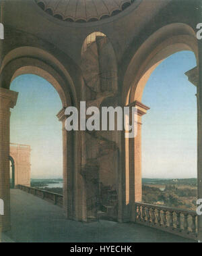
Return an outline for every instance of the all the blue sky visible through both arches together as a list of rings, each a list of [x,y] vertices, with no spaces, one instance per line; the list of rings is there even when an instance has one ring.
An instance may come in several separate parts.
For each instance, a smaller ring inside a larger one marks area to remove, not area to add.
[[[196,87],[184,72],[196,66],[192,52],[165,59],[151,74],[142,103],[150,107],[142,122],[143,178],[197,176]],[[18,76],[11,83],[18,103],[11,114],[11,143],[32,147],[32,178],[61,178],[62,108],[55,88],[39,76]]]

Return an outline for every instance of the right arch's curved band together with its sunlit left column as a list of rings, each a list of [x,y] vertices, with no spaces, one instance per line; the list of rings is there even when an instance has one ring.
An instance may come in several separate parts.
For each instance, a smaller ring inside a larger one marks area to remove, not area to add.
[[[199,64],[197,39],[193,28],[187,24],[169,24],[154,32],[137,49],[123,79],[123,105],[138,109],[138,132],[135,138],[123,138],[125,191],[124,199],[129,205],[133,219],[133,203],[141,201],[141,116],[149,109],[141,103],[143,89],[151,73],[166,57],[178,51],[193,51]],[[143,112],[141,112],[143,111]],[[129,214],[129,211],[127,214]]]

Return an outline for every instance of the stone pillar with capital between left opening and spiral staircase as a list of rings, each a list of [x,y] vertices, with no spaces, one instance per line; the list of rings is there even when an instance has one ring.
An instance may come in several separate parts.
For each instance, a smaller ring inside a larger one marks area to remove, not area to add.
[[[63,210],[68,219],[73,219],[73,132],[65,129],[65,108],[57,114],[63,123]]]

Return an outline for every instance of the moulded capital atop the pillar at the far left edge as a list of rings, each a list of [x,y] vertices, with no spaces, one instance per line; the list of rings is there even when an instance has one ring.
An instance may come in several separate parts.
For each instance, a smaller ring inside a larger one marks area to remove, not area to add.
[[[18,93],[5,88],[0,88],[0,107],[13,108],[18,99]]]

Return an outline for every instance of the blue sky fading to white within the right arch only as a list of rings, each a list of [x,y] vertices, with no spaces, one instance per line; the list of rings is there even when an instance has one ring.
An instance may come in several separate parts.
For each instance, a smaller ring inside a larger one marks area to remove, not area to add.
[[[197,177],[197,88],[184,72],[196,66],[194,53],[181,51],[151,74],[142,103],[143,178]]]

